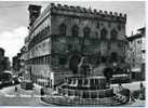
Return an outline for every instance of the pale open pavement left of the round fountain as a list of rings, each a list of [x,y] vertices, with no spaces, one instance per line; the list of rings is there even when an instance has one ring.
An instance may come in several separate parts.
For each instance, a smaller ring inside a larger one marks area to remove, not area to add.
[[[0,105],[1,106],[51,106],[40,99],[38,90],[25,91],[17,85],[9,86],[0,90]]]

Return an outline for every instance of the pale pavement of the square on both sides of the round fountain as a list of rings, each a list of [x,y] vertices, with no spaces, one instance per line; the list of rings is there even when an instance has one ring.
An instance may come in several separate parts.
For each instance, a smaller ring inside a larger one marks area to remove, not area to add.
[[[132,82],[122,84],[123,87],[127,87],[131,91],[139,89],[139,82]],[[145,82],[144,82],[145,85]],[[15,92],[15,86],[9,86],[0,90],[0,106],[54,106],[46,103],[43,103],[40,99],[40,89],[35,87],[33,90],[23,90],[21,85],[17,86],[17,92]],[[116,91],[118,84],[111,84],[113,90]],[[123,105],[121,107],[144,107],[145,100],[136,99],[135,103]]]

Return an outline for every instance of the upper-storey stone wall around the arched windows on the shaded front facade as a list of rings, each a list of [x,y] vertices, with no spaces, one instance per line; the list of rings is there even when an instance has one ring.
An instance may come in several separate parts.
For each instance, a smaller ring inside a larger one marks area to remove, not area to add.
[[[75,13],[73,13],[75,14]],[[72,16],[64,16],[64,15],[53,15],[51,18],[51,33],[58,35],[59,30],[58,27],[60,24],[66,25],[66,36],[71,36],[71,27],[78,25],[79,27],[79,37],[83,37],[83,28],[90,27],[91,28],[91,38],[98,38],[100,39],[100,30],[107,30],[107,39],[110,39],[110,32],[112,29],[118,31],[118,39],[121,40],[121,36],[125,36],[125,24],[120,22],[112,22],[112,21],[99,21],[99,19],[90,19],[90,18],[82,18],[82,17],[72,17]],[[120,27],[121,26],[121,29]],[[120,30],[119,30],[120,29]]]

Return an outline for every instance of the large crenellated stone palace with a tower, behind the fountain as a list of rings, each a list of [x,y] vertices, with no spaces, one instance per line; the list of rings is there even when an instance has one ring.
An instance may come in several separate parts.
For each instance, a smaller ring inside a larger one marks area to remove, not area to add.
[[[125,57],[126,14],[51,3],[42,13],[29,5],[26,66],[33,82],[51,86],[78,73],[82,56],[96,67],[100,57]]]

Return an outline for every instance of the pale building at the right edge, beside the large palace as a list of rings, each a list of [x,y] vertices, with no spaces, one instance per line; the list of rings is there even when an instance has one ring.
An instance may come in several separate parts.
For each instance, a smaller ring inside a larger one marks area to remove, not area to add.
[[[131,64],[133,79],[145,79],[145,64],[146,64],[146,28],[139,28],[137,33],[129,37],[129,62]]]

